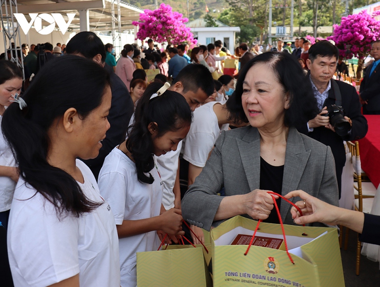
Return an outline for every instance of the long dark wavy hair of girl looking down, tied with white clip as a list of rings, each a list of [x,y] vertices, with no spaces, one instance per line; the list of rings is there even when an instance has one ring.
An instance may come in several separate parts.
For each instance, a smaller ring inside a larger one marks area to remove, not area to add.
[[[190,125],[193,117],[186,99],[177,92],[166,91],[161,96],[150,99],[161,87],[162,83],[157,82],[147,87],[137,102],[134,124],[128,128],[126,146],[134,157],[137,179],[141,183],[154,182],[153,176],[149,173],[155,167],[155,163],[152,134],[148,130],[148,125],[156,122],[157,137],[161,137],[167,131],[178,131]]]

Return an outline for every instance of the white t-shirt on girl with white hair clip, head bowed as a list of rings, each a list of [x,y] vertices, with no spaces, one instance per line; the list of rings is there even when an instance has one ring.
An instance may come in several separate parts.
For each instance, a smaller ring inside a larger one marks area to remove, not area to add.
[[[98,183],[102,196],[110,203],[117,225],[123,220],[138,220],[158,216],[161,210],[161,180],[154,167],[150,173],[153,184],[137,179],[136,166],[115,147],[104,160]],[[160,241],[156,231],[119,239],[121,286],[135,287],[136,252],[157,250]]]

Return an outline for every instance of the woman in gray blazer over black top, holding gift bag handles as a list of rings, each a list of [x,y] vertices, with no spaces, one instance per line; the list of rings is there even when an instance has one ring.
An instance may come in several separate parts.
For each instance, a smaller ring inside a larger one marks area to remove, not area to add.
[[[222,132],[183,197],[183,218],[206,230],[235,215],[278,223],[267,191],[285,195],[303,190],[337,206],[330,147],[294,128],[318,113],[310,81],[297,61],[287,53],[256,56],[240,74],[234,97],[229,101],[231,117],[249,125]],[[219,196],[222,188],[225,194]],[[282,220],[294,224],[291,205],[277,198]]]

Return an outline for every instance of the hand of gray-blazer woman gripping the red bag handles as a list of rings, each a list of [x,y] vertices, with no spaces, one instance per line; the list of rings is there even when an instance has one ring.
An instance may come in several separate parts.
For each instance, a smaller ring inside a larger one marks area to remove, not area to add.
[[[273,198],[268,191],[254,190],[244,195],[243,213],[251,216],[254,219],[267,219],[273,209]],[[277,199],[278,195],[273,194]]]

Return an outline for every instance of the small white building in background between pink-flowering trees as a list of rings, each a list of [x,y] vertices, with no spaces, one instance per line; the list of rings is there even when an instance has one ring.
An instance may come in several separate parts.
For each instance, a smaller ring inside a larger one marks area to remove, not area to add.
[[[221,40],[224,46],[233,53],[235,49],[235,34],[240,32],[240,27],[230,27],[226,24],[215,20],[218,27],[206,27],[204,19],[197,19],[186,24],[191,28],[194,37],[198,39],[201,45],[214,43],[216,40]]]

